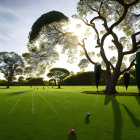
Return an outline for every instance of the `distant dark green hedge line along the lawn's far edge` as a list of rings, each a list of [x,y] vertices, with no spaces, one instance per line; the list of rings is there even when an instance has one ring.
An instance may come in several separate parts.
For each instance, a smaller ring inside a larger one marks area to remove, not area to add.
[[[78,72],[64,78],[61,82],[62,85],[95,85],[95,72]],[[124,85],[123,75],[118,80],[118,85]],[[6,86],[7,80],[0,80],[0,86]],[[54,82],[53,79],[49,81],[43,80],[43,78],[28,77],[24,78],[20,76],[18,81],[12,81],[11,86],[57,86],[58,82]],[[105,85],[105,77],[101,74],[100,84]],[[130,70],[130,85],[136,85],[136,70],[132,68]]]

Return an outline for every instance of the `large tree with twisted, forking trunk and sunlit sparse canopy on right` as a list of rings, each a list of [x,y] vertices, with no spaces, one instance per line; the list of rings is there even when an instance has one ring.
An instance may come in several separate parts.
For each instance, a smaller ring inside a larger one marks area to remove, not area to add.
[[[74,17],[90,26],[96,35],[95,48],[100,50],[101,58],[106,65],[106,92],[108,93],[116,93],[115,86],[119,76],[135,65],[134,57],[127,68],[121,68],[124,66],[125,56],[134,54],[140,48],[139,8],[139,0],[80,0],[77,4],[77,15]],[[109,60],[106,52],[105,42],[108,37],[113,43],[110,48],[115,48],[117,54],[116,57],[112,57],[112,61]],[[97,62],[93,61],[87,53],[84,39],[80,46],[84,49],[87,59],[92,64],[96,64]],[[129,48],[126,49],[126,46]]]

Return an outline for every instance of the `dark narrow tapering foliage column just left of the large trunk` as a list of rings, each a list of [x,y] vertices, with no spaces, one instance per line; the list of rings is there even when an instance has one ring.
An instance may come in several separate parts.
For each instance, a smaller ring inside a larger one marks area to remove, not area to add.
[[[96,87],[98,89],[100,77],[101,77],[101,65],[96,64],[94,71],[95,71],[95,83],[96,83]]]

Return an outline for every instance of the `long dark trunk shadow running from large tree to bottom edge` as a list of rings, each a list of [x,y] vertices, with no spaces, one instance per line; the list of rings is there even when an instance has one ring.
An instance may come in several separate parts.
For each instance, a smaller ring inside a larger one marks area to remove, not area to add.
[[[106,95],[104,105],[108,105],[112,102],[113,113],[114,113],[114,132],[113,139],[121,140],[122,135],[122,116],[121,110],[118,101],[115,98],[115,95]]]

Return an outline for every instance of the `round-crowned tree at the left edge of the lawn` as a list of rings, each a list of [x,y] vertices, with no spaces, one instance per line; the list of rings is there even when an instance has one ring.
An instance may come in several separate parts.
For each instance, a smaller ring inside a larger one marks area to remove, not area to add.
[[[23,72],[24,62],[18,54],[14,52],[0,52],[0,72],[4,74],[7,82],[7,88],[16,75]]]

